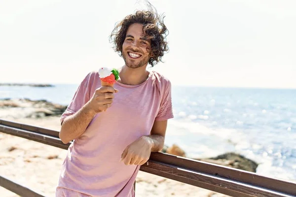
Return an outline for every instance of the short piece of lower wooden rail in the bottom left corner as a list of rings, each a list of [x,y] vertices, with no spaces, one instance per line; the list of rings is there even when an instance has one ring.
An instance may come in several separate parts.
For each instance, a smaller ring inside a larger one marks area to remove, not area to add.
[[[45,197],[36,191],[29,189],[23,185],[20,185],[7,177],[0,175],[0,186],[21,196],[21,197]]]

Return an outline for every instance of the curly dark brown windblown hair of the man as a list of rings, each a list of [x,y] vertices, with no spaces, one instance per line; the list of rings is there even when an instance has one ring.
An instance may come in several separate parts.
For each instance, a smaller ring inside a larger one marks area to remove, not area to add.
[[[149,10],[138,10],[118,22],[110,35],[110,42],[113,43],[115,52],[122,57],[122,44],[129,26],[134,23],[142,24],[145,38],[151,40],[151,57],[148,63],[153,67],[159,61],[162,62],[161,58],[169,50],[168,42],[166,41],[168,30],[163,22],[164,16],[159,16],[156,9],[152,9],[150,3],[148,3],[148,6]]]

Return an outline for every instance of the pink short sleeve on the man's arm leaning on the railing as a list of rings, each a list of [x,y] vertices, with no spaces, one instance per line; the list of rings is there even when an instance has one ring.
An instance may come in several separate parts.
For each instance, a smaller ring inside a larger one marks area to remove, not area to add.
[[[174,118],[172,106],[172,85],[169,80],[165,82],[165,86],[162,88],[160,95],[160,108],[155,121],[164,121]]]

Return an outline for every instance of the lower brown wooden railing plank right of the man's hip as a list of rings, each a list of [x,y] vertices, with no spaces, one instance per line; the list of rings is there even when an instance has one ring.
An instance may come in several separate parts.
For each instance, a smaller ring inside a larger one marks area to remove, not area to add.
[[[149,160],[141,170],[233,197],[293,197],[258,186]]]

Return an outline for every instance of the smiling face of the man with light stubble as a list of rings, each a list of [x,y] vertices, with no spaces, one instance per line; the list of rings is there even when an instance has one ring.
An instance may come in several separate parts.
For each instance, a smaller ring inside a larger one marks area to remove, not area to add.
[[[150,59],[150,40],[143,34],[143,25],[134,23],[129,26],[122,44],[122,57],[130,68],[147,66]]]

